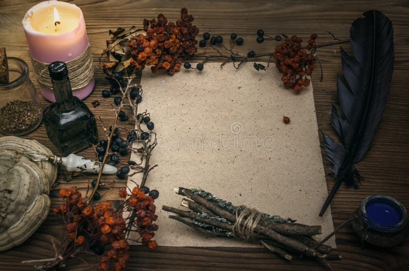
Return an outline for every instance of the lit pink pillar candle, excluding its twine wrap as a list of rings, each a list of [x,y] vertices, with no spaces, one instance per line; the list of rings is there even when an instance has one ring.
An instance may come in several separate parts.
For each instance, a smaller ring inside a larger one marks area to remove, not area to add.
[[[82,11],[74,4],[60,1],[41,2],[27,11],[22,19],[29,50],[38,61],[70,61],[89,46]],[[85,87],[73,89],[81,100],[92,93],[93,78]],[[42,96],[55,102],[53,90],[40,84]]]

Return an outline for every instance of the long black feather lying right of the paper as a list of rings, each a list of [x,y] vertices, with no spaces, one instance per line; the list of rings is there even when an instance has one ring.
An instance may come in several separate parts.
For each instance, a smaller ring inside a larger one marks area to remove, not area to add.
[[[356,186],[361,177],[354,164],[371,147],[391,89],[394,66],[393,26],[376,10],[363,13],[350,29],[354,58],[341,48],[345,81],[338,76],[338,103],[331,111],[332,125],[343,145],[324,133],[324,149],[333,164],[335,185],[320,212],[322,216],[342,182]]]

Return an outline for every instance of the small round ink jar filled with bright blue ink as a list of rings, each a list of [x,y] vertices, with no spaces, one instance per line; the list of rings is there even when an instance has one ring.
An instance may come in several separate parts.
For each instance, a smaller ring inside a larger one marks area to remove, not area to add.
[[[361,202],[355,215],[354,231],[370,244],[394,246],[403,242],[408,234],[406,209],[392,197],[369,196]]]

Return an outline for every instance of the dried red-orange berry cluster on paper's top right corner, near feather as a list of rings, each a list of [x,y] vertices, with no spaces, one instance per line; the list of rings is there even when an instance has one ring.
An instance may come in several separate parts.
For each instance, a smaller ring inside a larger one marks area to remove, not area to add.
[[[316,34],[311,34],[307,50],[312,50],[316,37]],[[314,70],[315,57],[301,48],[301,42],[301,38],[293,35],[277,46],[272,55],[276,60],[276,67],[283,74],[281,80],[284,85],[293,88],[295,92],[300,92],[302,86],[309,86],[310,79],[307,76]]]

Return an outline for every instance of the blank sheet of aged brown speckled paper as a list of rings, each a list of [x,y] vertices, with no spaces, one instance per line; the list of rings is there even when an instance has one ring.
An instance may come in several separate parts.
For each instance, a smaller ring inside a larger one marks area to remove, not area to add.
[[[266,64],[266,63],[263,63]],[[195,66],[195,65],[193,65]],[[162,206],[180,207],[173,188],[202,188],[234,205],[333,230],[331,210],[319,217],[327,196],[315,105],[310,85],[301,94],[283,87],[274,67],[206,63],[202,72],[142,76],[143,101],[155,124],[158,164],[147,186],[156,200],[159,245],[251,246],[202,235],[169,219]],[[283,115],[291,119],[283,122]],[[142,124],[143,129],[146,126]],[[132,154],[131,159],[138,160]],[[141,174],[131,177],[141,182]],[[128,185],[134,184],[128,180]],[[335,245],[334,238],[327,242]]]

